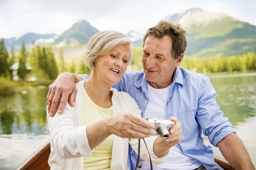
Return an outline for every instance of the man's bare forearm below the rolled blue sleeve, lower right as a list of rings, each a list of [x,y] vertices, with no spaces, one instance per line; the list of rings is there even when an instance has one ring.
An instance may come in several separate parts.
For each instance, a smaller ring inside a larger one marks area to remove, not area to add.
[[[244,144],[236,133],[227,135],[218,143],[218,147],[224,158],[236,170],[255,170]]]

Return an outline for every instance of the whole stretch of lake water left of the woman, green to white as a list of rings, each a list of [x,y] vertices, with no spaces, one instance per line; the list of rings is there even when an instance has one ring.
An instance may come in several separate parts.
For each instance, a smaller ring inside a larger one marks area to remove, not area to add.
[[[49,140],[46,117],[48,88],[26,95],[0,96],[0,170],[13,170]]]

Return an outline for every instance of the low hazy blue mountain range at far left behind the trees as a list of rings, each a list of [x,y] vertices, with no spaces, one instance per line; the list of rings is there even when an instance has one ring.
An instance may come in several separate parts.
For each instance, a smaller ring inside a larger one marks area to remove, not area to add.
[[[27,48],[32,48],[34,45],[40,44],[44,45],[47,43],[53,43],[58,35],[55,34],[35,34],[27,33],[21,37],[12,37],[4,39],[5,46],[8,51],[10,51],[11,46],[17,51],[20,49],[21,43],[24,42]]]

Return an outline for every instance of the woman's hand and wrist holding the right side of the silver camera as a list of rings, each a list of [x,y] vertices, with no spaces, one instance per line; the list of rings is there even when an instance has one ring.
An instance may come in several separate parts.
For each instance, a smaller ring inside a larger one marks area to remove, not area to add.
[[[169,120],[175,122],[174,126],[169,130],[169,138],[164,140],[158,137],[154,142],[154,154],[157,157],[162,156],[167,150],[178,144],[183,136],[181,122],[177,121],[175,117],[170,117]]]

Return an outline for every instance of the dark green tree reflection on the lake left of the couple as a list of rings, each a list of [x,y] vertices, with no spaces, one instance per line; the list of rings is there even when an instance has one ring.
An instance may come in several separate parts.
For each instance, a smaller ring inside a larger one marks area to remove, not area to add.
[[[12,133],[48,133],[45,128],[48,88],[31,88],[26,95],[1,96],[0,135]],[[25,123],[25,124],[24,124]],[[36,124],[37,128],[32,128]]]

